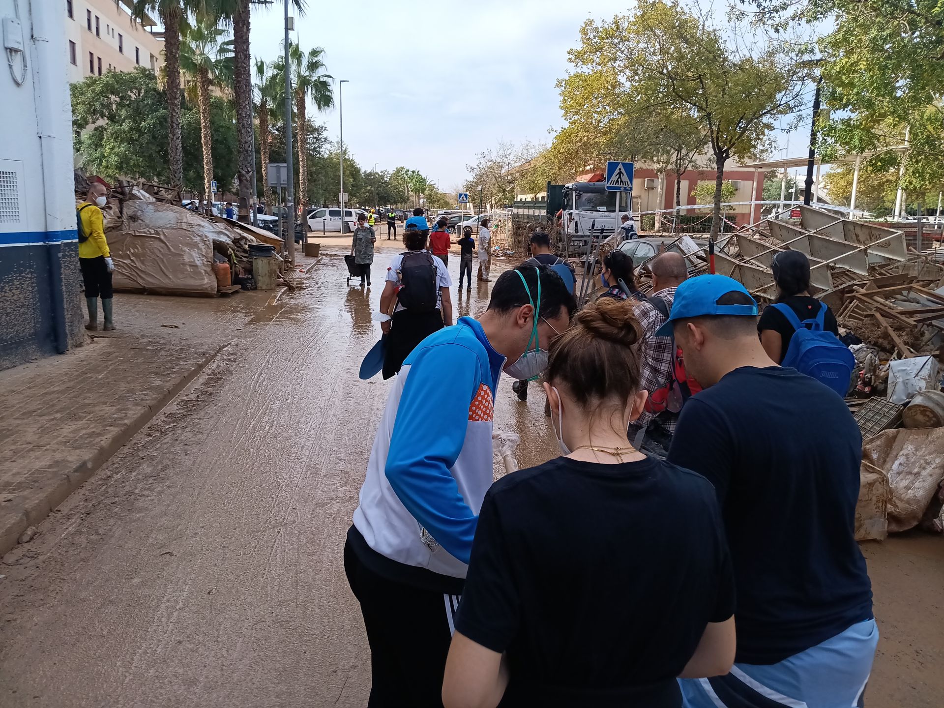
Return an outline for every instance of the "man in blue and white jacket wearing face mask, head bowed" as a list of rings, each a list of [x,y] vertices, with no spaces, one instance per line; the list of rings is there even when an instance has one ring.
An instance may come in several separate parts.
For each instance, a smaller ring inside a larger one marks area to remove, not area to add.
[[[497,279],[478,320],[431,334],[403,362],[345,546],[370,642],[370,708],[442,705],[452,616],[492,484],[498,377],[540,374],[574,307],[560,276],[521,265]]]

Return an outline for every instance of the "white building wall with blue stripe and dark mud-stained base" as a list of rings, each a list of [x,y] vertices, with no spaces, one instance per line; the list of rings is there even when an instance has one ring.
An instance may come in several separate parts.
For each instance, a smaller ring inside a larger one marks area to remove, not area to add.
[[[0,0],[0,18],[15,5]],[[58,0],[18,9],[24,51],[0,68],[0,369],[86,341],[66,19]]]

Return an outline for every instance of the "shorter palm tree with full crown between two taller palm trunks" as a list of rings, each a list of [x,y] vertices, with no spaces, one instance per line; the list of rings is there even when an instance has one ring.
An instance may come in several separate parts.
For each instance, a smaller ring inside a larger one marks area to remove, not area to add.
[[[228,73],[232,40],[221,42],[226,30],[212,17],[203,17],[187,29],[180,46],[180,68],[196,83],[200,110],[200,142],[203,145],[203,189],[211,199],[213,180],[213,137],[210,126],[210,88],[217,76]]]

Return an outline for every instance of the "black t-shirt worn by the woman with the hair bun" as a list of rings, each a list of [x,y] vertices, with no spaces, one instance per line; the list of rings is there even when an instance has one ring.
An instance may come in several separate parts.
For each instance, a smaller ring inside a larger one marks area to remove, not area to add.
[[[649,458],[557,458],[482,502],[456,631],[508,652],[502,708],[680,706],[708,622],[733,614],[711,484]]]

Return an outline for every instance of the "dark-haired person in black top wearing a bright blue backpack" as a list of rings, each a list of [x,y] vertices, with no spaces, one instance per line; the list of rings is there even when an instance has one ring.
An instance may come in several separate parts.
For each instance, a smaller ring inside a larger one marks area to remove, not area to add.
[[[820,309],[823,313],[823,331],[839,336],[839,324],[829,306],[810,295],[810,261],[801,251],[781,251],[771,264],[773,279],[777,283],[777,304],[783,303],[796,313],[801,322],[816,319]],[[783,312],[767,306],[757,321],[761,345],[773,362],[784,361],[786,350],[797,331]]]

